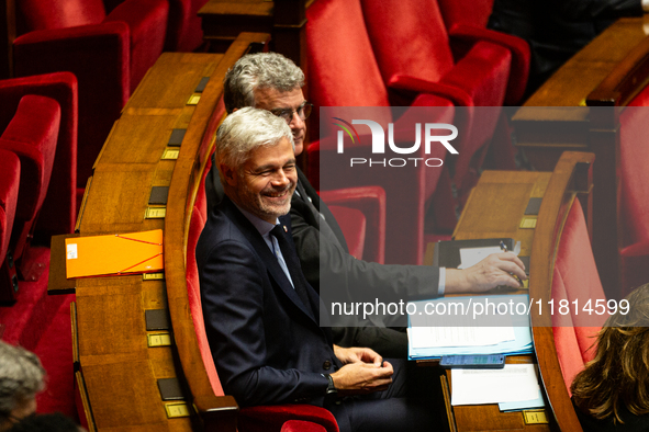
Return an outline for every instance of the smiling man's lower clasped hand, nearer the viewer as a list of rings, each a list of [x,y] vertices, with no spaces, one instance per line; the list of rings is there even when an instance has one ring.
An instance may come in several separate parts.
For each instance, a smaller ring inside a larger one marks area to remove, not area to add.
[[[371,350],[370,350],[371,351]],[[332,374],[338,395],[365,395],[381,391],[392,384],[394,370],[388,362],[377,366],[373,363],[348,363]]]

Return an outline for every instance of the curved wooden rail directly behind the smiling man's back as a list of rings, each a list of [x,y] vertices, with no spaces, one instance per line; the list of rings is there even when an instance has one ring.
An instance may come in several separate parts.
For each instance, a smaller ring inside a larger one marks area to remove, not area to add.
[[[187,291],[187,238],[199,183],[214,145],[214,134],[225,116],[223,104],[219,105],[223,95],[223,77],[246,54],[250,43],[265,42],[266,38],[265,34],[242,33],[212,73],[182,140],[167,201],[165,277],[174,338],[193,403],[205,430],[211,431],[236,431],[238,407],[232,396],[214,395],[199,351]]]

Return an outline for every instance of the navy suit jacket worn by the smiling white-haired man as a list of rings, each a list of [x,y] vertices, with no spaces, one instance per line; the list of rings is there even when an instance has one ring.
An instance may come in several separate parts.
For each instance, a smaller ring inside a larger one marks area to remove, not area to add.
[[[210,212],[197,263],[205,331],[225,393],[242,406],[322,406],[327,379],[321,374],[340,367],[331,332],[304,307],[261,235],[227,197]],[[309,296],[317,310],[311,287]]]

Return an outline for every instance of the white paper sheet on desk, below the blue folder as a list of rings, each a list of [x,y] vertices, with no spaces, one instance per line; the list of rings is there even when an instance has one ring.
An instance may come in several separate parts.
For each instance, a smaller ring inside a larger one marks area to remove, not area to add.
[[[502,370],[452,370],[451,405],[482,405],[541,397],[534,364],[505,364]]]

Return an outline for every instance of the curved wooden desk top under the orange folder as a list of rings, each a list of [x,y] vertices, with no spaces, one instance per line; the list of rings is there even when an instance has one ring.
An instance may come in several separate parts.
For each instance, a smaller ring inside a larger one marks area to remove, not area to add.
[[[184,148],[188,137],[195,145],[204,134],[213,134],[209,121],[222,94],[224,73],[258,37],[243,35],[225,55],[163,54],[123,110],[96,162],[79,216],[81,236],[165,228],[165,219],[144,217],[150,187],[170,186],[178,166],[176,160],[160,159],[171,130],[188,128],[180,151],[189,149]],[[203,77],[211,77],[201,94],[206,102],[187,105]],[[166,245],[165,254],[167,250]],[[148,346],[147,336],[164,331],[146,330],[145,311],[168,309],[166,281],[144,281],[142,275],[79,278],[76,293],[77,382],[87,394],[90,430],[157,432],[199,427],[190,417],[167,418],[168,402],[157,387],[159,378],[182,376],[171,321],[171,345]],[[232,402],[226,399],[221,403],[224,408]],[[184,401],[194,414],[191,395],[184,395]]]

